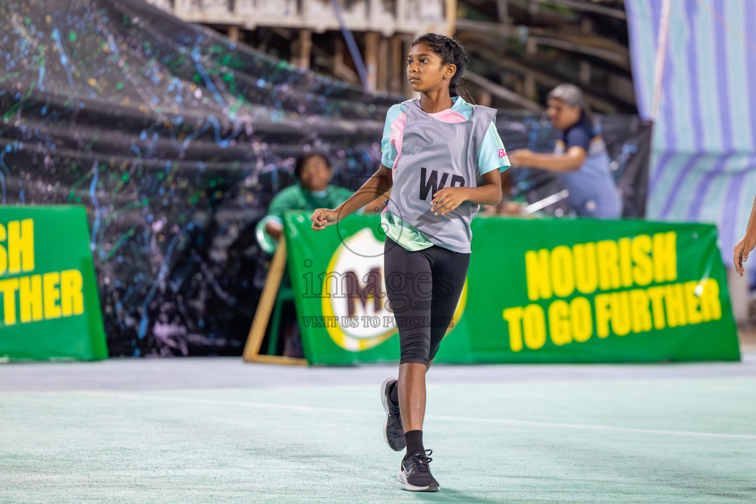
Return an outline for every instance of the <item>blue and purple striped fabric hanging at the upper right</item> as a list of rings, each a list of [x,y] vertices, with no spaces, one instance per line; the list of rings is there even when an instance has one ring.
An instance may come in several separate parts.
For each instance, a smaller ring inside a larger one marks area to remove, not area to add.
[[[756,195],[756,0],[671,0],[650,219],[717,224],[725,264]],[[640,115],[651,115],[662,0],[625,0]]]

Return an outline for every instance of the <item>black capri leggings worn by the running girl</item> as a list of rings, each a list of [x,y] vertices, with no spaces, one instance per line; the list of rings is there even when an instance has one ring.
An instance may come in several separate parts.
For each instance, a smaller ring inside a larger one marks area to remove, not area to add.
[[[386,237],[386,292],[399,329],[399,363],[426,364],[454,317],[470,255],[434,245],[410,252]]]

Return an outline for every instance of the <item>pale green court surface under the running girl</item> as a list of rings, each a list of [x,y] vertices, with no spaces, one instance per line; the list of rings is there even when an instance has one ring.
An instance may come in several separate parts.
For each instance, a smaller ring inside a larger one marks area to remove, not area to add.
[[[129,366],[2,366],[0,502],[756,502],[752,360],[438,366],[438,493],[396,481],[393,366]]]

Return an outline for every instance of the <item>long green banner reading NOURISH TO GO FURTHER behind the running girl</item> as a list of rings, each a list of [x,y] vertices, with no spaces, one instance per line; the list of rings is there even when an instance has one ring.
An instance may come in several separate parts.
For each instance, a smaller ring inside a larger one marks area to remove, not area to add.
[[[287,212],[309,363],[395,361],[380,217],[311,230]],[[476,218],[447,363],[739,360],[716,228],[641,220]]]

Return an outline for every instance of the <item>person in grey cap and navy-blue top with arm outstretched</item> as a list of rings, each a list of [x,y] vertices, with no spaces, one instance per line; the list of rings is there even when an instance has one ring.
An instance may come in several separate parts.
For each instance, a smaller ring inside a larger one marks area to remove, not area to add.
[[[580,88],[572,84],[556,86],[549,93],[547,114],[554,128],[562,130],[554,153],[513,150],[510,163],[556,172],[569,190],[567,203],[578,215],[620,218],[622,200],[612,178],[611,160]]]

